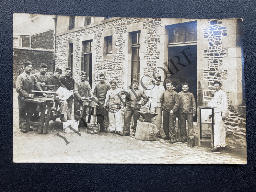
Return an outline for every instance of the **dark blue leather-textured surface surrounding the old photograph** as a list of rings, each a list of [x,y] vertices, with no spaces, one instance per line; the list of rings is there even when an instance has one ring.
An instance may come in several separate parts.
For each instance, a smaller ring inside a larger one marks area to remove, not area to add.
[[[256,191],[254,0],[1,0],[0,191]],[[13,13],[98,17],[243,18],[246,165],[12,163]]]

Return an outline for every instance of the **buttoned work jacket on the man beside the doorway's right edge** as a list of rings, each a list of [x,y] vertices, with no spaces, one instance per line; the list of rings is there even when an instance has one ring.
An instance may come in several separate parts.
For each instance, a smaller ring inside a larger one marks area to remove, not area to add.
[[[188,102],[187,102],[188,106],[184,106],[184,104],[185,104],[184,94],[188,94]],[[187,93],[184,93],[183,91],[181,91],[180,93],[178,93],[178,95],[180,97],[179,112],[180,113],[187,113],[187,114],[191,114],[191,113],[195,114],[196,113],[196,107],[195,107],[194,95],[192,93],[190,93],[189,91]]]

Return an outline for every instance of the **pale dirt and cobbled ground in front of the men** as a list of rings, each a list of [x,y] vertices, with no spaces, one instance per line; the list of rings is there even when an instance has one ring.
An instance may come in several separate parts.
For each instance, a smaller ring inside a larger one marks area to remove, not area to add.
[[[23,133],[18,128],[15,89],[13,98],[13,161],[16,163],[193,163],[192,158],[194,163],[246,163],[246,148],[236,149],[235,152],[229,145],[226,152],[216,155],[210,152],[209,143],[202,144],[201,148],[198,145],[189,148],[187,143],[171,144],[159,138],[156,141],[141,141],[134,136],[122,137],[110,132],[87,134],[86,128],[80,128],[79,136],[74,132],[64,133],[60,119],[50,121],[48,134],[38,134],[32,126],[32,131]],[[65,136],[68,144],[57,133]],[[163,130],[161,134],[164,134]],[[215,161],[207,161],[208,155]]]

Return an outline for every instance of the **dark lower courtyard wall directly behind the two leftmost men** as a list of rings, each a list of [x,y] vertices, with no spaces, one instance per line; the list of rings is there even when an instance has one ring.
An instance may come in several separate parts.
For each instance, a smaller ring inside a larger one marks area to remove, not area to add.
[[[33,64],[32,74],[39,72],[40,64],[47,65],[48,76],[52,75],[53,70],[53,51],[38,51],[22,48],[13,49],[13,87],[16,87],[16,80],[20,73],[24,72],[23,63],[30,61]]]

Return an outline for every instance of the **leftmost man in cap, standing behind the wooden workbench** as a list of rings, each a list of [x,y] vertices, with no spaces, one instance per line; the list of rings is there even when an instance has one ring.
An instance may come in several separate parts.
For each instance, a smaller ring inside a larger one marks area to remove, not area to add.
[[[18,93],[18,105],[19,105],[19,129],[22,132],[26,132],[26,113],[29,113],[29,108],[31,107],[34,111],[36,110],[36,105],[29,104],[25,102],[26,98],[33,99],[34,94],[31,93],[32,86],[38,91],[43,91],[33,74],[32,63],[27,61],[24,63],[24,72],[17,77],[16,91]],[[45,93],[42,96],[47,96]],[[29,130],[28,130],[29,131]]]

